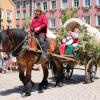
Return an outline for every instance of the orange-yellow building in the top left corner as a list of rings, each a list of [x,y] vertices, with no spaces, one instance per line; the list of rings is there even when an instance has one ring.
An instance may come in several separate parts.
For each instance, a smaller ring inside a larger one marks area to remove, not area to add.
[[[16,27],[16,5],[12,0],[0,0],[1,29]]]

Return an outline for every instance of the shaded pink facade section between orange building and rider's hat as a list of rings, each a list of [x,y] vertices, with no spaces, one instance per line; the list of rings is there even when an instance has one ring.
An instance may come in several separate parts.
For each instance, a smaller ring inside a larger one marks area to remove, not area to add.
[[[34,0],[13,0],[16,4],[16,27],[20,28],[23,24],[29,24],[28,20],[34,13]]]

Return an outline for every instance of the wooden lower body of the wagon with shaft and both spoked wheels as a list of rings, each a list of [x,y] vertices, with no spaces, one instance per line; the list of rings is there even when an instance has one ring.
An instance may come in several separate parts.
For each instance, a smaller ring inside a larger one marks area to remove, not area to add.
[[[52,54],[52,56],[59,58],[62,62],[63,74],[66,80],[72,77],[74,69],[79,69],[85,71],[84,81],[86,83],[93,82],[97,72],[97,58],[95,53],[90,51],[77,52],[79,52],[77,54],[77,57],[74,57],[72,55],[61,56],[57,54]],[[84,69],[76,68],[76,65],[79,63],[81,63],[81,65],[84,65]]]

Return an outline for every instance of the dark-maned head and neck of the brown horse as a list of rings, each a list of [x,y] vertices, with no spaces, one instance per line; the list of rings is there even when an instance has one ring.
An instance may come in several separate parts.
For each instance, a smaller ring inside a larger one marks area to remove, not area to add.
[[[12,52],[16,56],[22,49],[26,32],[22,29],[6,29],[0,32],[0,44],[3,44],[4,50]],[[6,48],[5,48],[6,47]]]

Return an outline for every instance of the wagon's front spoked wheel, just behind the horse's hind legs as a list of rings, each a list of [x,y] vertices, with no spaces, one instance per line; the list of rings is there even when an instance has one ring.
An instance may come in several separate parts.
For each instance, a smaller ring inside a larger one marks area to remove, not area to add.
[[[69,64],[63,64],[63,74],[66,80],[69,80],[73,75],[73,68]]]

